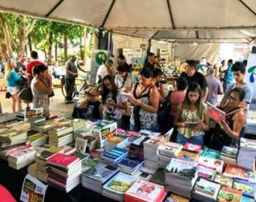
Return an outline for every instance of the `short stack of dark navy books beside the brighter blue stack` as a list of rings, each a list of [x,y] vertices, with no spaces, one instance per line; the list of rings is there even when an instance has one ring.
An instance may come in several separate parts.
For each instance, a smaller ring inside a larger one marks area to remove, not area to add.
[[[120,171],[134,175],[143,165],[144,159],[129,155],[118,163]]]

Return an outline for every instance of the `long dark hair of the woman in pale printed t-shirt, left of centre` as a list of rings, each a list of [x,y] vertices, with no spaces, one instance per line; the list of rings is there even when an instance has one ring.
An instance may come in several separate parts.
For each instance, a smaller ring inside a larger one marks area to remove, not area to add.
[[[106,86],[104,85],[104,81],[105,80],[109,80],[109,82],[111,83],[112,85],[112,91],[109,91],[108,88],[106,88]],[[107,76],[104,76],[103,77],[103,82],[102,82],[102,89],[101,89],[101,97],[102,97],[102,100],[103,100],[103,104],[106,104],[106,99],[107,99],[107,96],[108,94],[112,92],[112,100],[114,100],[115,102],[117,102],[117,97],[118,97],[118,87],[117,85],[115,85],[115,81],[113,79],[112,76],[110,75],[107,75]]]

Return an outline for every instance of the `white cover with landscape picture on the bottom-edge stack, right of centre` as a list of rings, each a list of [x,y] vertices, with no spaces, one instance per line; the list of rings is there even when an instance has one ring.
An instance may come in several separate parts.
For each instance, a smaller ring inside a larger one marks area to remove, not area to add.
[[[193,192],[196,192],[199,195],[204,195],[207,198],[212,198],[213,200],[216,200],[220,186],[221,185],[218,183],[213,183],[210,180],[199,178],[199,180],[197,180],[197,182],[195,183]]]

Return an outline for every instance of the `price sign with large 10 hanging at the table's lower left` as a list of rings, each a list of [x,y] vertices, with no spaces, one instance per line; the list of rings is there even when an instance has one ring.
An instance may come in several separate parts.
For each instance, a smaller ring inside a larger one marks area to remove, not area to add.
[[[20,201],[23,202],[43,202],[46,195],[47,186],[41,183],[30,174],[25,176]]]

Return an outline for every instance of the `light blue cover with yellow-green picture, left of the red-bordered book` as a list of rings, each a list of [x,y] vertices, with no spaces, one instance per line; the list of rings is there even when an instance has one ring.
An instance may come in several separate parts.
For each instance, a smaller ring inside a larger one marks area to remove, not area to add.
[[[103,188],[109,189],[112,192],[118,192],[123,194],[124,192],[132,186],[132,183],[135,182],[135,177],[132,175],[124,174],[122,172],[118,173],[112,180],[109,180]]]

